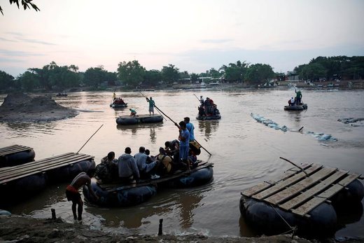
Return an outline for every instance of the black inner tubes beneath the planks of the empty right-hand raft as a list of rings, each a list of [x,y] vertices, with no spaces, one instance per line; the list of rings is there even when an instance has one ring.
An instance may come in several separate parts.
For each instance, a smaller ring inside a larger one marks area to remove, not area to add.
[[[240,213],[249,225],[265,235],[276,235],[291,230],[287,223],[297,227],[297,235],[305,237],[330,237],[339,228],[338,210],[350,211],[351,207],[361,204],[364,197],[364,186],[355,179],[339,193],[330,198],[330,204],[324,202],[309,212],[309,216],[299,216],[285,211],[268,202],[255,200],[242,195]],[[283,219],[284,218],[284,222]]]

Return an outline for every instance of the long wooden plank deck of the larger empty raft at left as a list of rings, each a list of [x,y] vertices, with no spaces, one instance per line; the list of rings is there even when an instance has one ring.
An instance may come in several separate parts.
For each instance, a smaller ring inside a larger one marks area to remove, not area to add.
[[[0,185],[14,181],[32,174],[45,173],[51,169],[57,169],[67,165],[73,165],[83,160],[93,160],[94,156],[82,153],[64,153],[43,160],[28,162],[24,165],[0,168]]]

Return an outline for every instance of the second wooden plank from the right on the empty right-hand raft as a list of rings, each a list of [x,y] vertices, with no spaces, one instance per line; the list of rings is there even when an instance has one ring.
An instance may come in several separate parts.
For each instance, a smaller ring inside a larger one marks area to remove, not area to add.
[[[320,193],[321,191],[325,190],[325,188],[328,188],[334,181],[337,181],[340,177],[347,174],[347,171],[339,170],[335,172],[335,174],[332,174],[325,180],[318,183],[316,186],[310,188],[309,190],[306,190],[304,193],[297,195],[297,197],[294,197],[290,199],[288,202],[285,202],[284,204],[279,205],[282,209],[290,210],[296,207],[299,204],[302,204],[303,202],[306,202],[309,200],[309,198],[313,197],[317,193]]]

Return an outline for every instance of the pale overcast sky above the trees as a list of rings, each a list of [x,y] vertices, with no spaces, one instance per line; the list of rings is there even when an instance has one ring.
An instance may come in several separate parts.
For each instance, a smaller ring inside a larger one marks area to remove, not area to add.
[[[54,61],[80,71],[138,60],[197,73],[230,62],[292,71],[318,56],[364,55],[363,0],[0,0],[0,71]]]

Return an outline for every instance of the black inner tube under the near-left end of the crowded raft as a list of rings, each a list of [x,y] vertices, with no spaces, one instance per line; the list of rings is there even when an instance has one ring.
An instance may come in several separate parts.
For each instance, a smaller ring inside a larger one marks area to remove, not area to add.
[[[92,180],[91,188],[99,197],[96,200],[88,190],[87,186],[83,187],[83,196],[85,201],[99,207],[130,207],[151,199],[157,193],[157,187],[153,184],[147,186],[123,186],[114,185],[109,188],[102,187],[97,181]]]

